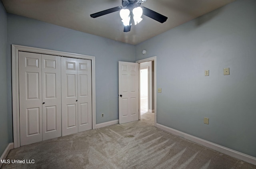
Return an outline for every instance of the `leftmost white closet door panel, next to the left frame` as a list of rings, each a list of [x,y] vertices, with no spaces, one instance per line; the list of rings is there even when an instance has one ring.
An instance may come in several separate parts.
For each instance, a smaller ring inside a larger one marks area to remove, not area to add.
[[[19,51],[20,145],[42,141],[41,54]]]

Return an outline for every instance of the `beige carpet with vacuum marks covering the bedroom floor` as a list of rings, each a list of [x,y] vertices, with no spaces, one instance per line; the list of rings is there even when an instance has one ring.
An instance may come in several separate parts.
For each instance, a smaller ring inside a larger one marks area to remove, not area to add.
[[[141,120],[80,132],[12,149],[3,169],[256,169],[244,161],[184,140],[153,126],[154,113]]]

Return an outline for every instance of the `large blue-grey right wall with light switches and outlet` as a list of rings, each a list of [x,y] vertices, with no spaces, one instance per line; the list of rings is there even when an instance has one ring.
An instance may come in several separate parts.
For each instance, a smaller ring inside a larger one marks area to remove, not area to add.
[[[237,0],[136,45],[157,56],[157,123],[256,157],[255,17]]]

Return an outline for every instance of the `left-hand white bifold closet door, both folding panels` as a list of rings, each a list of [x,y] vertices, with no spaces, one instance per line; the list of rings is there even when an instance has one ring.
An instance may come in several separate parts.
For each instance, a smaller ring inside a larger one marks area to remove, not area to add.
[[[20,145],[60,137],[60,57],[19,51]]]

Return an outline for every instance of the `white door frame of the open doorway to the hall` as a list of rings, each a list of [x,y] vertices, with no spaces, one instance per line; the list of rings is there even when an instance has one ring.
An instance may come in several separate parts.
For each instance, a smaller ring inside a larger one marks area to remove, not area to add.
[[[140,63],[144,63],[144,62],[149,62],[149,61],[154,61],[154,126],[156,127],[156,113],[157,113],[157,109],[156,109],[156,56],[154,57],[149,57],[146,59],[142,59],[142,60],[138,60],[136,61],[136,63],[139,63],[139,70],[140,70]],[[139,73],[139,79],[140,79],[140,73]],[[140,81],[139,81],[139,98],[140,98]],[[139,99],[139,119],[140,119],[140,99]]]

